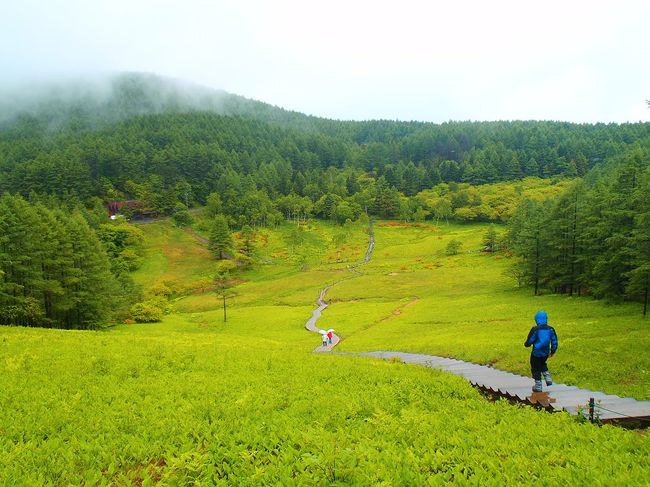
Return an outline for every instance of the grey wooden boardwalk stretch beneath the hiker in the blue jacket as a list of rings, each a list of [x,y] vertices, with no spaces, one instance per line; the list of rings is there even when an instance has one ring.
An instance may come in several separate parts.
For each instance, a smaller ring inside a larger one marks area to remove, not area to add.
[[[366,352],[357,355],[424,365],[465,377],[474,387],[512,401],[542,407],[548,411],[567,411],[577,415],[588,411],[589,399],[595,399],[595,417],[603,423],[650,420],[650,401],[637,401],[613,394],[580,389],[566,384],[544,385],[543,392],[532,392],[530,377],[504,372],[485,365],[435,355],[406,352]]]

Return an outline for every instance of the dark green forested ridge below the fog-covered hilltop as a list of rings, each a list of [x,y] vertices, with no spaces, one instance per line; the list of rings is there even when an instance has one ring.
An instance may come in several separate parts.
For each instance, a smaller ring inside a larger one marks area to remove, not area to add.
[[[334,135],[330,129],[304,131],[191,112],[140,115],[49,136],[29,135],[24,128],[17,137],[14,126],[0,132],[0,190],[86,200],[135,197],[133,184],[153,184],[157,193],[187,184],[184,203],[203,203],[208,194],[225,190],[263,191],[272,200],[295,193],[316,202],[328,193],[353,196],[363,178],[383,177],[389,188],[413,196],[440,182],[581,176],[631,144],[650,140],[650,124],[552,122],[386,122],[387,134],[414,130],[388,140],[359,140],[359,129],[381,123],[331,122],[330,129],[339,129]]]

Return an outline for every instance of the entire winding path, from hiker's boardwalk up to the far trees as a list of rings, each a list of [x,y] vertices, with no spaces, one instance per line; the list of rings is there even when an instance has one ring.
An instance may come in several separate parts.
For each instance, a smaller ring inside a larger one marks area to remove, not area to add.
[[[372,222],[368,233],[370,237],[364,260],[348,268],[350,272],[356,275],[340,279],[325,287],[320,292],[317,300],[318,307],[314,310],[307,323],[305,323],[307,330],[322,334],[325,330],[321,330],[316,325],[316,322],[328,306],[325,301],[327,292],[340,282],[363,275],[358,270],[358,267],[370,262],[375,247]],[[398,307],[391,315],[384,317],[383,320],[401,314],[404,308],[415,304],[417,301],[418,298],[414,297],[410,302]],[[331,344],[321,345],[314,352],[331,352],[340,341],[341,338],[334,334]],[[450,372],[464,377],[474,387],[492,396],[503,397],[512,402],[535,406],[551,412],[566,411],[573,415],[583,415],[592,419],[597,418],[603,423],[622,421],[647,423],[650,421],[650,401],[637,401],[632,398],[623,398],[612,394],[557,383],[550,386],[547,385],[544,392],[532,392],[532,379],[529,377],[512,374],[487,365],[478,365],[449,357],[395,351],[365,352],[355,353],[353,355],[384,360],[399,360],[405,363],[419,364]]]

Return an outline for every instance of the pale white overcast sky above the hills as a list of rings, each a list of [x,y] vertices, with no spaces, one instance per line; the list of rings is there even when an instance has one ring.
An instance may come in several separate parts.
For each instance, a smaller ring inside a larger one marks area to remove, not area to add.
[[[650,120],[647,0],[0,6],[9,82],[146,71],[328,118]]]

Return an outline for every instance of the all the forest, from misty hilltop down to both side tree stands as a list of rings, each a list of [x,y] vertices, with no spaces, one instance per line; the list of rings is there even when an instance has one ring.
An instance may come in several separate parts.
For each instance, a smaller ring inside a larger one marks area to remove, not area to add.
[[[92,328],[139,299],[123,246],[135,227],[102,224],[116,200],[181,226],[205,204],[225,234],[284,218],[514,214],[520,283],[647,309],[650,123],[334,121],[135,74],[1,107],[0,324]],[[548,201],[527,201],[531,186]]]

